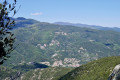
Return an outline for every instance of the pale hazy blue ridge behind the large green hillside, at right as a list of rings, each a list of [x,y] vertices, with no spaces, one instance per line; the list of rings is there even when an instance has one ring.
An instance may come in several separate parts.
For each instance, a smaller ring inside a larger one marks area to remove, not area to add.
[[[86,28],[91,28],[91,29],[98,29],[98,30],[114,30],[120,32],[120,28],[118,27],[103,27],[103,26],[98,26],[98,25],[88,25],[88,24],[80,24],[80,23],[69,23],[69,22],[55,22],[53,24],[58,24],[58,25],[72,25],[72,26],[77,26],[77,27],[86,27]]]

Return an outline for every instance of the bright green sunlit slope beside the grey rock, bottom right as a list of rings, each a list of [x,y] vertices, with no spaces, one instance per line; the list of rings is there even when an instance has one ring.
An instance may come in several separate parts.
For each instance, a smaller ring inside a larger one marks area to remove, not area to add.
[[[59,80],[107,80],[118,64],[120,56],[102,58],[72,70]]]

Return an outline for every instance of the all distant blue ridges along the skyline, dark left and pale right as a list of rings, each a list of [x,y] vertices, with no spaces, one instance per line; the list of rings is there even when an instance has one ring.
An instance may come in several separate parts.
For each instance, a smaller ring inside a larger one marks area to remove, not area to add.
[[[28,25],[32,25],[35,23],[39,23],[40,21],[34,20],[34,19],[26,19],[24,17],[18,17],[18,18],[14,18],[14,20],[16,21],[16,26],[15,28],[19,28],[21,27],[20,25],[24,25],[22,27],[26,27],[25,24]],[[47,22],[41,22],[41,23],[47,23]],[[77,26],[77,27],[83,27],[83,28],[91,28],[91,29],[97,29],[97,30],[113,30],[113,31],[117,31],[120,32],[120,28],[118,27],[103,27],[103,26],[99,26],[99,25],[88,25],[88,24],[81,24],[81,23],[69,23],[69,22],[54,22],[53,24],[57,24],[57,25],[66,25],[66,26]]]

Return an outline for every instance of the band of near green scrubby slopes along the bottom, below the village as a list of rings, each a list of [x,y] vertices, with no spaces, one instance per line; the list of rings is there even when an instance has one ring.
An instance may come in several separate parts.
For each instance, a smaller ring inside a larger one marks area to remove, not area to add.
[[[34,65],[19,65],[14,69],[1,67],[0,79],[16,77],[22,80],[107,80],[113,68],[120,64],[120,56],[106,57],[88,62],[78,68],[48,67],[36,68]],[[15,70],[17,69],[17,70]],[[19,71],[18,71],[19,70]],[[27,72],[26,72],[27,71]]]

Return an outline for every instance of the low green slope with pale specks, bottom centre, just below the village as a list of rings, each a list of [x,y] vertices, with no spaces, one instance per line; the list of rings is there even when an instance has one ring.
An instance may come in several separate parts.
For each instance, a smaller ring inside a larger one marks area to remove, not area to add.
[[[31,70],[21,76],[20,80],[58,80],[73,68],[49,67],[46,69]]]

